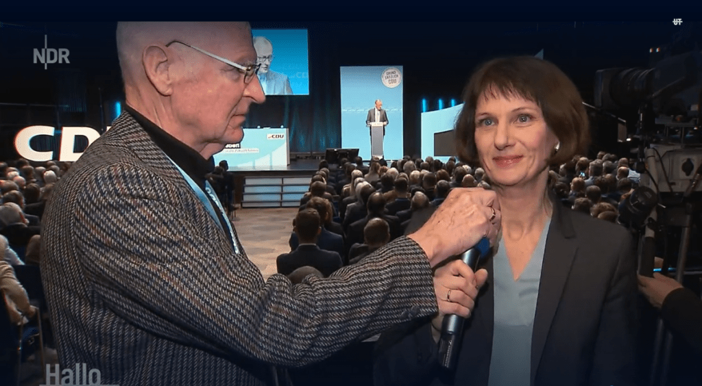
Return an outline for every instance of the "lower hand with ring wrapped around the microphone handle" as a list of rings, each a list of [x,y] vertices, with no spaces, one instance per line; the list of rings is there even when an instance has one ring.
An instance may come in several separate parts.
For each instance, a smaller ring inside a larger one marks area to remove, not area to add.
[[[432,336],[435,341],[441,338],[444,316],[455,314],[468,318],[475,307],[480,287],[485,284],[487,271],[478,270],[475,274],[461,260],[454,260],[434,273],[434,292],[437,296],[439,313],[432,319]]]

